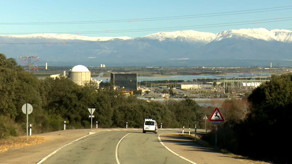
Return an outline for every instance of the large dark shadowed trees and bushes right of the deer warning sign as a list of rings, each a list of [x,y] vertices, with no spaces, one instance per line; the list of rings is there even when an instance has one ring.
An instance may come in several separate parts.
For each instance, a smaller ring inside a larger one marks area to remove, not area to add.
[[[244,117],[227,119],[218,128],[218,146],[235,154],[273,163],[292,163],[289,148],[290,115],[292,109],[292,74],[272,75],[271,80],[257,87],[248,97],[251,108],[229,104],[235,114],[243,110]],[[237,106],[237,107],[236,107]],[[228,107],[225,105],[225,107]],[[222,108],[224,109],[224,107]],[[214,130],[205,138],[214,145]]]

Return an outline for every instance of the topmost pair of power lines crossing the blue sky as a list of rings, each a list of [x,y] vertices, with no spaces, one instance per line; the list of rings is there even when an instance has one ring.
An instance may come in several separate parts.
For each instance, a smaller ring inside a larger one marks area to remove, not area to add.
[[[212,14],[198,14],[198,15],[182,15],[182,16],[172,16],[172,17],[158,17],[158,18],[142,18],[142,19],[120,19],[120,20],[104,20],[104,21],[76,21],[76,22],[23,22],[23,23],[0,23],[0,25],[42,25],[42,24],[91,24],[91,23],[115,23],[115,22],[129,22],[129,20],[138,21],[155,21],[155,20],[170,20],[170,19],[188,19],[188,18],[201,18],[201,17],[212,17],[212,16],[223,16],[223,15],[237,15],[237,14],[247,14],[247,13],[256,13],[256,12],[268,12],[268,11],[277,11],[277,10],[287,10],[287,9],[279,9],[285,7],[292,6],[283,6],[283,7],[275,7],[275,8],[266,8],[266,9],[254,9],[254,10],[243,10],[243,11],[234,11],[234,12],[220,12],[220,13],[212,13]],[[265,10],[265,11],[258,11]],[[254,12],[246,12],[246,11],[254,11]],[[242,12],[242,13],[235,13]],[[216,14],[216,15],[215,15]],[[218,15],[219,14],[219,15]],[[183,17],[183,18],[181,18]]]

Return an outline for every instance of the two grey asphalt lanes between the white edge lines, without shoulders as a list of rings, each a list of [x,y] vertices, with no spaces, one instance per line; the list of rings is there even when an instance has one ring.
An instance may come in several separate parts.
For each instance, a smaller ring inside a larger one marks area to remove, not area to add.
[[[165,149],[158,140],[158,134],[144,134],[140,129],[98,132],[62,148],[42,163],[117,163],[116,145],[127,135],[117,149],[121,164],[149,164],[149,162],[189,164]]]

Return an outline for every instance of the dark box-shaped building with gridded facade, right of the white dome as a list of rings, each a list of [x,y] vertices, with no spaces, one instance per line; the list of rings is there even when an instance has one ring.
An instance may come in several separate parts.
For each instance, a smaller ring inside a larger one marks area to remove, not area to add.
[[[111,73],[110,80],[117,90],[134,91],[138,87],[137,73]]]

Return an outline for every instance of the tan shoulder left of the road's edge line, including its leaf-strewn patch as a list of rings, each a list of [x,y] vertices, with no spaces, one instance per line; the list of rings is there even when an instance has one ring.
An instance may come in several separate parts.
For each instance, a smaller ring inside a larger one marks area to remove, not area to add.
[[[3,147],[0,145],[0,149],[3,148],[0,150],[0,163],[37,163],[60,147],[88,135],[90,131],[91,129],[74,129],[42,133],[29,136],[29,141],[26,141],[26,136],[13,138],[14,140],[9,140],[12,143],[2,143]]]

